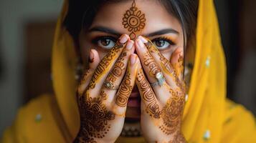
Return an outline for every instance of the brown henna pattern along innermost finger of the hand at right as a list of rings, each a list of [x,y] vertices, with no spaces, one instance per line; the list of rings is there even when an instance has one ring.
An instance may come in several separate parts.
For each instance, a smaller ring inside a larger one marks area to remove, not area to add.
[[[142,69],[138,71],[136,81],[138,82],[138,88],[140,89],[140,94],[142,94],[143,99],[149,103],[148,106],[146,107],[146,112],[151,117],[159,119],[161,114],[160,107],[156,102],[155,94],[153,93],[153,90],[151,89],[151,86],[148,83],[148,80],[143,74]]]

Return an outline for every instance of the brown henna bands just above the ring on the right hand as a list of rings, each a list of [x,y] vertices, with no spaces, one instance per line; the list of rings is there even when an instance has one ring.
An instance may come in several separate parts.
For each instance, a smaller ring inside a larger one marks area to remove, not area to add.
[[[144,64],[145,66],[148,66],[149,74],[151,77],[156,77],[156,74],[161,71],[161,69],[156,64],[156,61],[153,59],[151,54],[149,54],[148,51],[146,51],[146,54],[144,55]]]

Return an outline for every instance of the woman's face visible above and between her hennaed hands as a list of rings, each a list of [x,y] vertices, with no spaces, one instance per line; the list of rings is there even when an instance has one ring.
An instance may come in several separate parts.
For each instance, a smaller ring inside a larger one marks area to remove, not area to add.
[[[99,9],[87,32],[80,34],[81,55],[84,62],[88,60],[86,58],[90,53],[88,49],[96,49],[100,59],[103,59],[120,35],[131,33],[123,26],[123,17],[125,12],[131,8],[132,3],[133,1],[123,1],[104,4]],[[145,14],[146,18],[145,27],[136,34],[151,39],[167,59],[171,59],[171,54],[174,51],[183,51],[184,39],[181,24],[166,11],[159,1],[137,0],[136,7]],[[135,86],[131,98],[128,100],[126,117],[131,119],[140,117],[139,97]]]

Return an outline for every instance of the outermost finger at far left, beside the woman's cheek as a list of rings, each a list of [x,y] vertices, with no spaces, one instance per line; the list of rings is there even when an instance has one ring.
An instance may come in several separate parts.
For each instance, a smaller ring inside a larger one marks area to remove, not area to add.
[[[96,51],[95,49],[91,49],[89,55],[89,69],[86,69],[84,74],[82,75],[82,79],[80,80],[80,84],[77,88],[78,94],[82,94],[85,91],[85,88],[88,86],[93,72],[95,71],[99,62],[100,56],[98,54],[98,51]]]

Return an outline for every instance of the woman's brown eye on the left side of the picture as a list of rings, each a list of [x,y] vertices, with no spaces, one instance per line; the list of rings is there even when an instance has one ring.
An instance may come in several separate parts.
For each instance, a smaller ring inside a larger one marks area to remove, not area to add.
[[[115,46],[116,39],[110,36],[101,36],[93,40],[93,43],[97,44],[103,49],[112,49]]]

